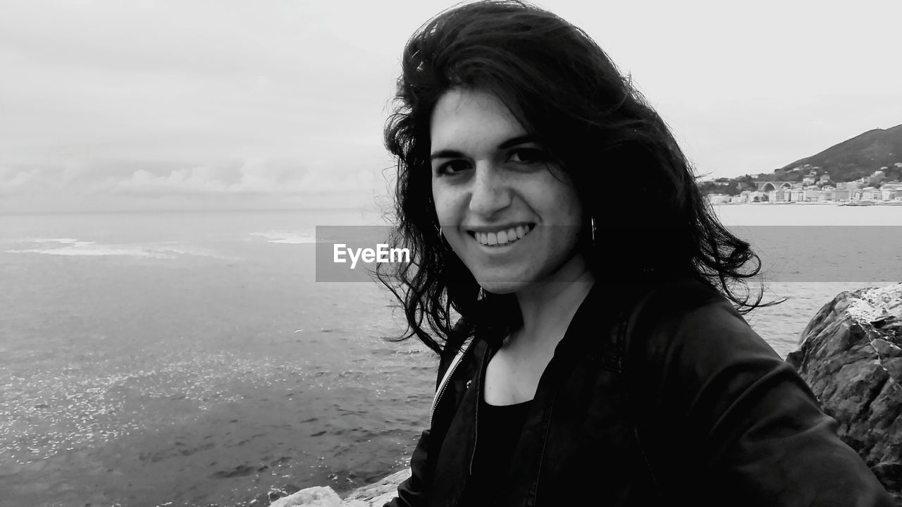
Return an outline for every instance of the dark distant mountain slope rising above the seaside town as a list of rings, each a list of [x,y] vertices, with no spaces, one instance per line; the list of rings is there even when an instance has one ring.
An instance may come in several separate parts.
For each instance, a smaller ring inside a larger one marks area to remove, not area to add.
[[[874,129],[827,148],[823,152],[797,160],[780,171],[810,164],[830,173],[833,181],[857,180],[870,176],[884,166],[902,162],[902,124]]]

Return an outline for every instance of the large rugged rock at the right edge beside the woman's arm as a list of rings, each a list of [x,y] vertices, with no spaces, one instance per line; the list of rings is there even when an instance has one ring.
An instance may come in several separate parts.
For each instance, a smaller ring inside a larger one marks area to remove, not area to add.
[[[902,283],[836,296],[787,362],[902,505]]]

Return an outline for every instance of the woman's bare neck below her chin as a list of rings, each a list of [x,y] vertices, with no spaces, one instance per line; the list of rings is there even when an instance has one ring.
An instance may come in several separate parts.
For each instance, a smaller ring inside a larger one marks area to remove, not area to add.
[[[595,282],[587,265],[574,267],[568,281],[546,281],[517,292],[523,327],[511,335],[511,345],[554,350]]]

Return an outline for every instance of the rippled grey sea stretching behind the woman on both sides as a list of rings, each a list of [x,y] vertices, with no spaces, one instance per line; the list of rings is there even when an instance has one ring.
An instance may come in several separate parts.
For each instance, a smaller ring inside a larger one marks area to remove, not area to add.
[[[785,299],[745,317],[780,355],[839,292],[902,281],[902,207],[716,209],[761,254],[752,288]],[[379,224],[0,215],[0,506],[239,506],[408,466],[437,356],[392,341],[404,319],[382,286],[315,269],[317,226]]]

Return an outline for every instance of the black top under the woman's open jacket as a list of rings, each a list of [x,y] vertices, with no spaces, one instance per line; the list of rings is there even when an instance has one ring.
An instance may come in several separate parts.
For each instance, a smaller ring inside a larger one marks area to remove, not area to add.
[[[495,505],[503,499],[504,482],[530,404],[530,401],[513,405],[479,402],[473,475],[467,481],[458,505],[482,507]]]

